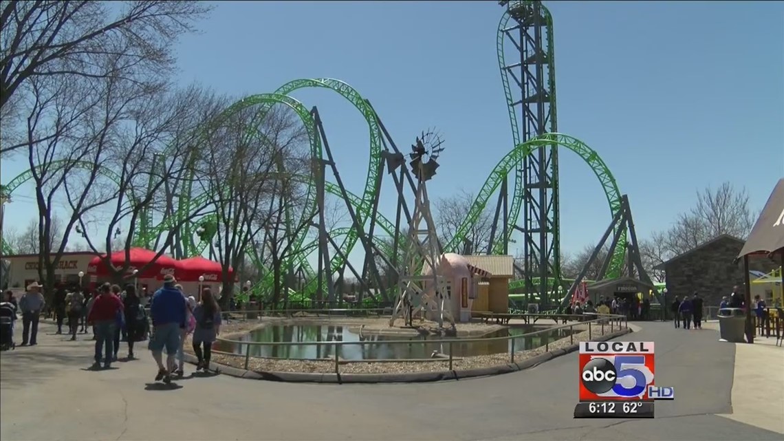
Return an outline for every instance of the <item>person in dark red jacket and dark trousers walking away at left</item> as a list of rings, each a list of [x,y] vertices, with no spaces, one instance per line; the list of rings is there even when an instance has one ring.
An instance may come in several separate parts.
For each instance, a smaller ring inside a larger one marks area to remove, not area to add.
[[[114,355],[114,330],[117,327],[117,315],[122,314],[122,301],[120,297],[111,292],[111,285],[104,283],[100,287],[98,297],[94,297],[93,308],[87,315],[87,323],[95,330],[96,352],[93,368],[100,367],[101,350],[103,353],[103,368],[111,366]]]

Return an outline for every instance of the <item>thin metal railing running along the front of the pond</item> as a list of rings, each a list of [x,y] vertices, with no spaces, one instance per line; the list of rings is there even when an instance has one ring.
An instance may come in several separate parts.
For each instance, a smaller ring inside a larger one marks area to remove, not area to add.
[[[579,315],[575,315],[575,318],[579,318],[579,317],[580,317]],[[405,344],[405,345],[408,345],[408,346],[410,346],[412,344],[445,344],[449,348],[449,354],[448,354],[448,359],[446,357],[444,357],[442,361],[448,361],[449,370],[452,370],[454,359],[455,359],[454,355],[453,355],[454,351],[452,351],[452,346],[454,344],[479,343],[479,342],[486,343],[486,342],[492,342],[492,341],[509,341],[508,346],[510,347],[510,362],[514,363],[514,354],[515,354],[514,341],[516,341],[517,339],[519,339],[519,338],[526,338],[526,337],[535,337],[535,336],[537,336],[539,334],[550,333],[550,332],[552,332],[554,330],[569,329],[571,331],[569,333],[569,337],[568,337],[569,338],[569,343],[570,344],[574,344],[574,338],[575,338],[574,327],[575,326],[587,326],[587,328],[588,328],[587,329],[587,331],[588,331],[588,340],[591,340],[591,339],[593,339],[593,333],[595,331],[599,331],[599,329],[596,329],[597,327],[601,328],[601,334],[599,334],[599,335],[604,335],[604,331],[605,331],[606,327],[609,327],[610,333],[613,333],[613,332],[615,332],[615,330],[626,329],[628,327],[628,322],[626,320],[626,317],[622,316],[622,315],[601,315],[601,316],[597,317],[597,319],[593,319],[593,320],[589,320],[589,321],[583,321],[583,322],[578,322],[578,323],[571,323],[571,324],[561,325],[561,326],[553,326],[553,327],[548,327],[548,328],[543,329],[543,330],[536,330],[536,331],[532,331],[532,332],[529,332],[529,333],[522,333],[522,334],[519,334],[519,335],[511,335],[511,336],[506,336],[506,337],[452,338],[452,339],[443,339],[443,340],[422,340],[422,341],[416,341],[416,340],[387,340],[387,341],[383,341],[383,344],[390,344],[390,345]],[[566,337],[563,337],[563,338],[565,339]],[[561,338],[558,338],[557,340],[561,340]],[[248,370],[248,367],[249,367],[249,363],[250,363],[250,359],[251,359],[250,352],[251,352],[251,347],[252,346],[306,346],[306,345],[311,345],[312,346],[314,344],[319,344],[319,345],[323,345],[323,346],[335,346],[336,347],[335,348],[335,355],[334,355],[334,358],[333,358],[333,360],[335,362],[335,374],[340,374],[340,357],[339,357],[339,353],[341,352],[341,348],[343,348],[343,346],[363,346],[365,344],[379,344],[378,341],[319,341],[318,343],[314,342],[314,341],[291,341],[291,342],[289,342],[289,341],[237,341],[237,340],[229,340],[229,339],[220,338],[220,337],[218,337],[217,341],[220,341],[221,343],[224,343],[224,344],[245,345],[245,353],[244,354],[235,354],[235,355],[244,355],[245,356],[245,364],[244,364],[245,370]],[[550,352],[550,338],[549,337],[547,337],[545,339],[545,344],[543,346],[545,348],[545,352]],[[539,346],[539,348],[541,348],[541,346]],[[327,359],[321,359],[321,360],[325,361]],[[410,361],[410,360],[408,360],[408,361]]]

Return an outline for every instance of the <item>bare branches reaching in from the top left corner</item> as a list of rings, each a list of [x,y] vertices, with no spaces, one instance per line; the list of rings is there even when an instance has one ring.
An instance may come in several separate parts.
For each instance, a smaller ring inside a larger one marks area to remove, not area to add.
[[[61,82],[122,76],[137,81],[140,72],[147,78],[165,77],[174,65],[173,43],[194,31],[194,21],[209,11],[195,1],[118,3],[107,8],[89,0],[2,2],[2,116],[19,115],[12,109],[20,103],[16,96],[30,93],[34,78]],[[107,65],[107,57],[117,63]],[[19,147],[4,144],[0,153]]]

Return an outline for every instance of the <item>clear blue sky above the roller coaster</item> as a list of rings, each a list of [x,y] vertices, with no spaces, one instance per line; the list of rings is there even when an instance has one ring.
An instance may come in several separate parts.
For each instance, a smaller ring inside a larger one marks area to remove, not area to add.
[[[638,234],[667,228],[695,191],[730,180],[761,208],[784,176],[784,7],[780,2],[545,2],[554,16],[559,131],[586,142],[630,196]],[[295,78],[339,78],[379,112],[401,148],[445,138],[431,197],[476,193],[512,147],[495,55],[496,2],[220,2],[178,48],[183,86],[236,96]],[[368,131],[327,90],[316,105],[347,188],[361,193]],[[585,163],[561,159],[561,243],[575,251],[610,221]],[[4,160],[2,182],[24,170]],[[9,227],[36,217],[32,188]],[[382,210],[394,216],[394,188]],[[13,213],[13,215],[12,215]]]

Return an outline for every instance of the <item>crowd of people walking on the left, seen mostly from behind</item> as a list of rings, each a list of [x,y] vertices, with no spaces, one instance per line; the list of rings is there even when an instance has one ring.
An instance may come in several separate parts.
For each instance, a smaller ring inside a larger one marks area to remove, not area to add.
[[[3,300],[12,305],[14,321],[18,312],[22,315],[22,346],[38,343],[38,321],[46,308],[41,289],[38,282],[31,283],[18,302],[11,291],[5,293]],[[86,295],[80,289],[71,293],[58,290],[53,301],[56,333],[63,333],[66,320],[71,341],[77,339],[78,333],[92,328],[93,369],[108,369],[118,361],[121,341],[128,344],[129,360],[136,359],[134,345],[148,341],[147,348],[158,365],[155,381],[169,383],[173,376],[184,375],[183,346],[189,335],[198,360],[196,370],[209,370],[212,344],[220,335],[221,314],[209,288],[204,288],[199,297],[197,301],[184,293],[172,275],[166,275],[163,286],[149,297],[137,295],[132,284],[123,290],[118,285],[103,283],[96,293]],[[12,342],[14,327],[11,323]]]

